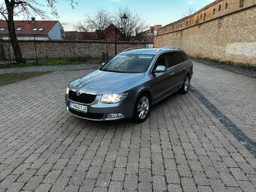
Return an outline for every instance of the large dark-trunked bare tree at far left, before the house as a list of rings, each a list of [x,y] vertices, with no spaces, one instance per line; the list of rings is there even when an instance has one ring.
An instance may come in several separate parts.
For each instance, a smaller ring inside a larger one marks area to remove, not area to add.
[[[75,0],[66,0],[72,6],[75,7],[77,4]],[[56,0],[45,0],[47,6],[51,9],[53,16],[58,16],[56,11]],[[8,23],[8,32],[10,35],[11,45],[14,50],[14,56],[17,63],[25,63],[26,60],[20,50],[20,45],[17,41],[17,35],[14,26],[14,16],[28,19],[30,16],[39,16],[43,19],[47,18],[45,11],[43,10],[44,5],[38,3],[35,0],[5,0],[5,3],[0,4],[0,14],[2,19]]]

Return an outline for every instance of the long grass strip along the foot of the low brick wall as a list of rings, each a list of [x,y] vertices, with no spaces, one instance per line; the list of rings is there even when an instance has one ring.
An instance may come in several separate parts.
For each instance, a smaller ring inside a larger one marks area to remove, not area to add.
[[[31,67],[31,66],[64,66],[64,65],[79,65],[79,64],[100,64],[102,59],[87,59],[85,61],[77,61],[71,59],[44,59],[38,61],[27,62],[24,64],[0,64],[0,69]]]

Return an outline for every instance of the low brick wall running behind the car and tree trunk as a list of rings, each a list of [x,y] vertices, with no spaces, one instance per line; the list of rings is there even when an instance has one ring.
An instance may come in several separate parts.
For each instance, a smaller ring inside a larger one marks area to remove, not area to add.
[[[39,59],[52,58],[102,58],[102,52],[114,56],[114,41],[19,41],[25,59],[35,59],[35,47]],[[5,59],[14,58],[11,45],[2,41]],[[146,42],[117,41],[117,53],[131,47],[146,47]]]

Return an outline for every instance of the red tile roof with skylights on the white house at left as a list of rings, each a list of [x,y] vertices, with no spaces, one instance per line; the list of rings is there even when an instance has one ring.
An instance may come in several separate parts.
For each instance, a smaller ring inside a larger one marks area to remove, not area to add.
[[[22,29],[17,31],[17,35],[47,35],[51,29],[58,23],[57,20],[16,20],[14,21],[15,27],[21,27]],[[0,20],[0,35],[8,35],[8,26],[5,20]],[[33,31],[33,29],[43,29],[41,31]]]

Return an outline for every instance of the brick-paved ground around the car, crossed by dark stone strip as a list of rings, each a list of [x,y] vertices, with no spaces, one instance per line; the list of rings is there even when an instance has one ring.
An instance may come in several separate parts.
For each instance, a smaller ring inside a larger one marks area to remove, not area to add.
[[[191,91],[154,106],[142,124],[67,114],[66,86],[87,72],[0,87],[0,191],[255,191],[255,157]],[[251,78],[195,63],[191,83],[251,136]]]

